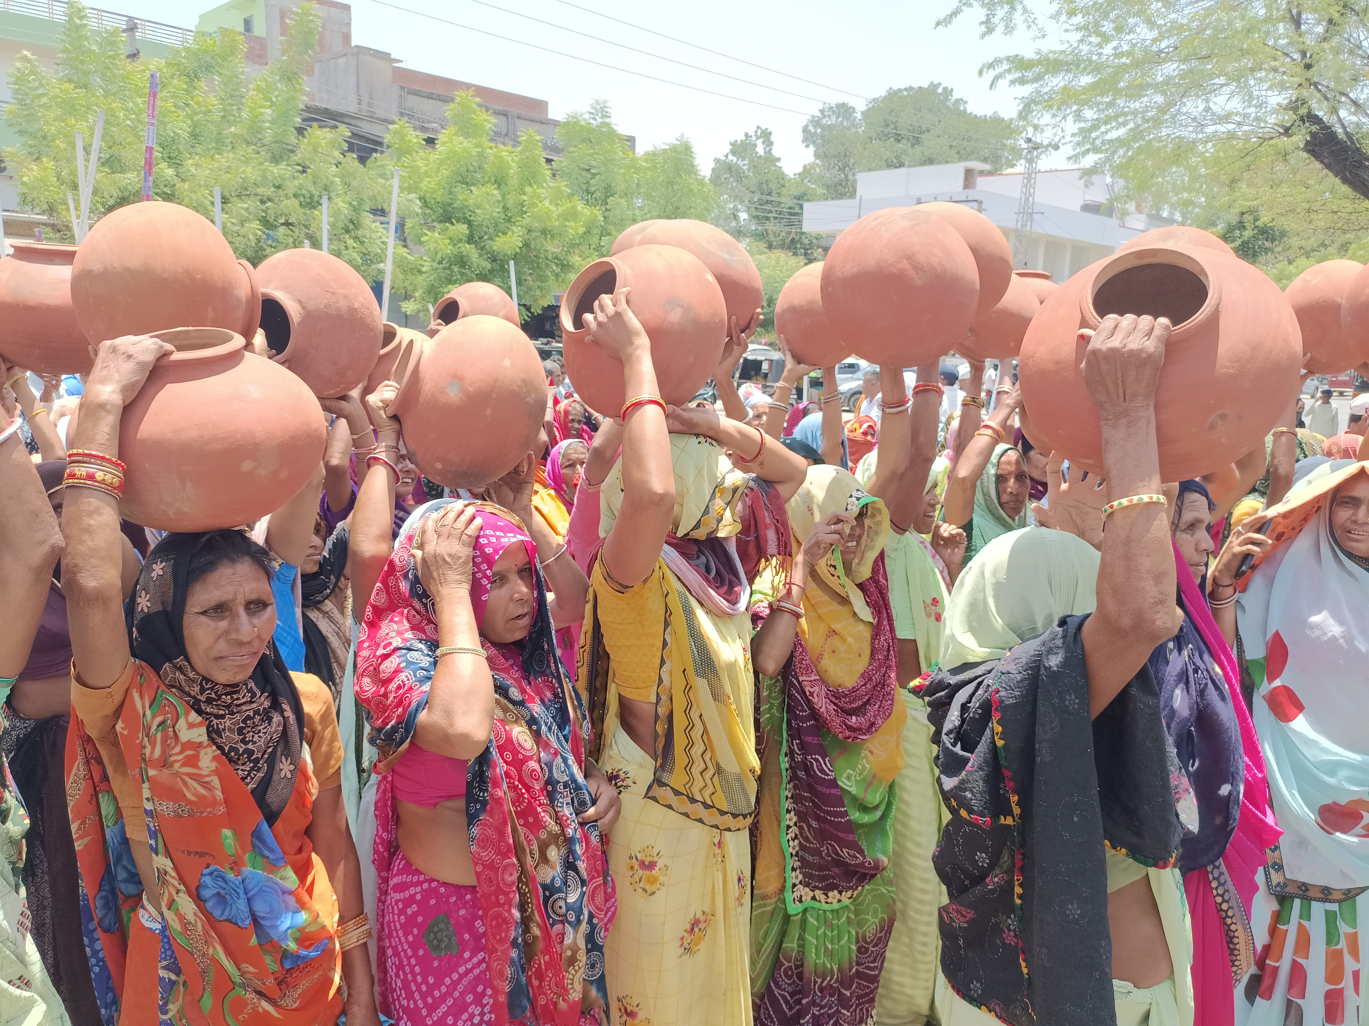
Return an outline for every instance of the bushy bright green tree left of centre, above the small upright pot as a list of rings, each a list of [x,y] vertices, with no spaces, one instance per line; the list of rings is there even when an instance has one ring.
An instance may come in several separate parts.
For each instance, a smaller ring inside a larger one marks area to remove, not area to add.
[[[446,108],[448,127],[428,149],[405,122],[387,137],[389,152],[367,164],[378,181],[400,167],[404,237],[394,250],[394,287],[419,313],[465,282],[508,280],[517,271],[519,301],[541,309],[597,256],[604,218],[552,175],[542,140],[526,131],[517,146],[490,142],[494,115],[471,93]]]

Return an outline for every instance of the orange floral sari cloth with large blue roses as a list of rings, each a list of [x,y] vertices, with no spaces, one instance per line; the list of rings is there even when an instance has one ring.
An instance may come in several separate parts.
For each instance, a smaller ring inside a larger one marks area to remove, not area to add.
[[[130,829],[151,837],[160,884],[160,1023],[334,1021],[342,1011],[338,908],[304,839],[318,793],[308,763],[268,828],[204,721],[151,668],[136,662],[133,672],[119,736],[134,778],[141,767],[145,824],[123,821],[99,748],[77,717],[67,736],[86,953],[104,1022],[119,1021],[130,986],[153,984],[125,978],[133,917],[149,915]]]

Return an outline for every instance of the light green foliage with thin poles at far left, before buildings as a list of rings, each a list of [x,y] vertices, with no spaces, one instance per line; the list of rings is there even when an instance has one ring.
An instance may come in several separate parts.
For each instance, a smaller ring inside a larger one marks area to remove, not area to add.
[[[385,231],[371,208],[387,198],[374,175],[345,152],[345,129],[303,135],[304,71],[322,19],[301,5],[282,38],[282,56],[251,82],[242,36],[196,36],[166,60],[129,60],[118,30],[94,31],[78,3],[67,8],[57,70],[21,53],[10,75],[14,103],[5,120],[21,145],[5,159],[19,176],[27,209],[68,222],[67,193],[78,194],[75,140],[89,150],[96,111],[104,109],[92,219],[142,194],[148,73],[160,73],[153,196],[214,218],[223,196],[223,234],[253,264],[271,253],[322,242],[322,197],[329,196],[329,249],[368,280],[382,275]],[[57,233],[70,239],[71,233]]]

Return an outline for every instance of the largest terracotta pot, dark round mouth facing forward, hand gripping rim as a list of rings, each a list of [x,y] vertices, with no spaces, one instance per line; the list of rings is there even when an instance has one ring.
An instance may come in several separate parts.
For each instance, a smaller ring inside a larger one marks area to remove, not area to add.
[[[1298,391],[1298,319],[1279,286],[1213,249],[1151,246],[1086,267],[1042,304],[1019,357],[1032,442],[1102,472],[1098,410],[1079,365],[1108,313],[1169,317],[1155,397],[1160,477],[1179,482],[1262,442]]]

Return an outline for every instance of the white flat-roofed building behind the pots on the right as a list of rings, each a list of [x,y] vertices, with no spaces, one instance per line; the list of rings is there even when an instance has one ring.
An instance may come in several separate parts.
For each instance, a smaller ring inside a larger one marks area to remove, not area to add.
[[[804,231],[835,239],[871,211],[949,200],[984,213],[1012,245],[1017,234],[1023,175],[1020,171],[983,174],[987,170],[987,164],[965,161],[864,171],[856,175],[856,198],[805,202]],[[1108,183],[1090,182],[1083,168],[1038,171],[1036,209],[1024,265],[1047,271],[1054,280],[1064,282],[1142,231],[1169,223],[1139,211],[1120,219],[1112,212],[1105,215],[1110,202]]]

